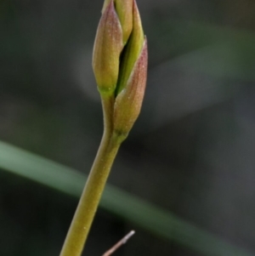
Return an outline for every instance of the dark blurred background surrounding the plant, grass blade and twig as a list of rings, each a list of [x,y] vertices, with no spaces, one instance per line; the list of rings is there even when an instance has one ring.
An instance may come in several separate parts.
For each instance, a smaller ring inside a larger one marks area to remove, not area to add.
[[[137,0],[144,105],[109,184],[255,253],[255,2]],[[0,1],[0,139],[88,174],[103,123],[91,67],[103,1]],[[0,172],[0,255],[59,250],[77,206]],[[86,255],[200,255],[100,208]]]

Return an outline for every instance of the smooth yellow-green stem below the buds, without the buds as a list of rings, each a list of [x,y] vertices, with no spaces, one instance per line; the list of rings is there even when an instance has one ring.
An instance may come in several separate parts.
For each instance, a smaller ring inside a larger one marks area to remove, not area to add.
[[[112,129],[113,100],[111,97],[102,99],[102,103],[105,127],[103,138],[87,183],[82,191],[77,211],[72,219],[60,256],[80,256],[82,254],[82,249],[87,240],[112,163],[121,145],[120,139],[116,137]]]

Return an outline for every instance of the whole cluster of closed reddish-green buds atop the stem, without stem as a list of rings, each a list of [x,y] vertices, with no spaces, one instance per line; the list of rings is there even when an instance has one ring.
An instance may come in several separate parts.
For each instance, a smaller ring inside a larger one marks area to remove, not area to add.
[[[115,134],[127,137],[139,116],[147,77],[147,40],[135,0],[105,0],[94,44],[99,93],[111,96]],[[106,99],[106,98],[105,98]]]

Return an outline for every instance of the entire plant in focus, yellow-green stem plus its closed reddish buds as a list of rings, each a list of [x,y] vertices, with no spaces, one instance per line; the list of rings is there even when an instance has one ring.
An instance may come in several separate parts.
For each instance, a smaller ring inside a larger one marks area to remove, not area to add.
[[[117,151],[139,117],[147,63],[147,40],[135,0],[105,0],[93,53],[104,134],[60,256],[82,254]]]

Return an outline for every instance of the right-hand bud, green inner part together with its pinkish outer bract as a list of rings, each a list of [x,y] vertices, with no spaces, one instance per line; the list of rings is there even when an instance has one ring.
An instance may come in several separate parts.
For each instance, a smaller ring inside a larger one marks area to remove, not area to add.
[[[124,48],[116,87],[114,129],[126,137],[139,116],[147,77],[147,40],[139,10],[133,2],[133,31]]]

